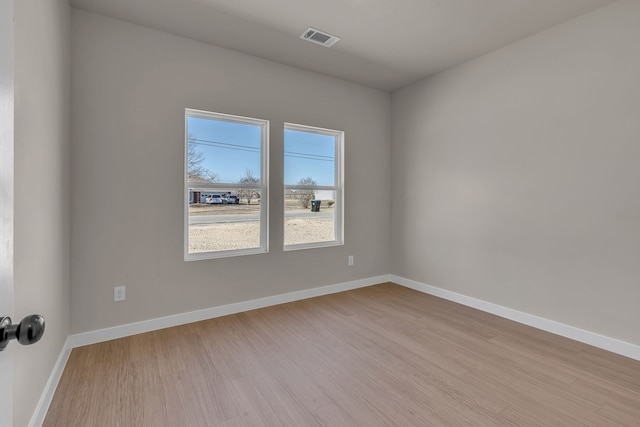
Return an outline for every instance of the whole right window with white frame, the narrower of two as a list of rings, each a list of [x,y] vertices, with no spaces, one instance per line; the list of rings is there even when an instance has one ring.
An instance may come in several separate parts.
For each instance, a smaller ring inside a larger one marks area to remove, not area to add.
[[[285,123],[284,250],[343,244],[344,132]]]

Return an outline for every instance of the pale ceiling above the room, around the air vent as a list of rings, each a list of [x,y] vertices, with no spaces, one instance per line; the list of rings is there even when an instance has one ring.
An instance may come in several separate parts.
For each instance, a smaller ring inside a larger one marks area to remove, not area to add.
[[[392,91],[616,0],[71,0],[73,7]],[[307,27],[342,38],[299,38]]]

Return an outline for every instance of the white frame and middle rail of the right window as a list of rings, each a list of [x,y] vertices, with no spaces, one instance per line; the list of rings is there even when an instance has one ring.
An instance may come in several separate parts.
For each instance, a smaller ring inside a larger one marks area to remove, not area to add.
[[[334,237],[335,240],[327,242],[311,242],[311,243],[299,243],[296,245],[283,245],[283,250],[297,251],[301,249],[314,249],[330,246],[343,246],[344,245],[344,132],[335,129],[325,129],[314,126],[299,125],[295,123],[284,123],[284,130],[293,130],[307,133],[317,133],[320,135],[333,135],[336,137],[335,144],[335,186],[304,186],[304,185],[284,185],[284,190],[301,189],[301,190],[331,190],[336,192],[336,208],[334,210]],[[283,191],[284,193],[284,191]],[[284,204],[283,208],[283,231],[285,215]]]

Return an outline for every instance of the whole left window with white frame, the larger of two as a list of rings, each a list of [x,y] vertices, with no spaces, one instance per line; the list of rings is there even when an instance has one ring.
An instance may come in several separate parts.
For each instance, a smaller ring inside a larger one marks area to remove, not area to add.
[[[268,251],[269,122],[185,110],[185,261]]]

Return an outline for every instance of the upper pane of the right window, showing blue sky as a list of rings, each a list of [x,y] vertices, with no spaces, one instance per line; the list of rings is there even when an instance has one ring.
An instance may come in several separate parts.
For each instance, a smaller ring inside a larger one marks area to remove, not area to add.
[[[336,137],[314,132],[285,129],[284,184],[335,185]]]

